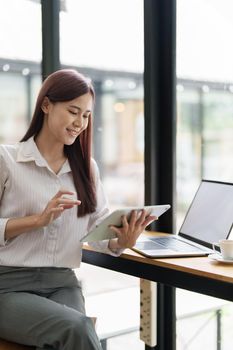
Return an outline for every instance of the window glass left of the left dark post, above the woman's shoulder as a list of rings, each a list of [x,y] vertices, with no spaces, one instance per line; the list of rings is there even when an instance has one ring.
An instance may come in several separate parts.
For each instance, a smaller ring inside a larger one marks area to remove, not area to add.
[[[3,3],[3,2],[2,2]],[[38,91],[42,57],[39,1],[5,1],[0,11],[0,142],[24,135]]]

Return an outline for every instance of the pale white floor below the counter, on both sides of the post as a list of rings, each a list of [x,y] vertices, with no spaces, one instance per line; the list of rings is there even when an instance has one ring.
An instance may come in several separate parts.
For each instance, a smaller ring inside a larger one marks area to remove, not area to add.
[[[76,273],[83,284],[87,313],[98,318],[99,334],[139,325],[139,279],[87,264]],[[233,303],[177,290],[177,350],[215,350],[216,318],[211,309],[222,305],[221,349],[232,350]],[[202,310],[208,312],[196,315]],[[134,331],[110,338],[107,350],[144,350],[144,343]]]

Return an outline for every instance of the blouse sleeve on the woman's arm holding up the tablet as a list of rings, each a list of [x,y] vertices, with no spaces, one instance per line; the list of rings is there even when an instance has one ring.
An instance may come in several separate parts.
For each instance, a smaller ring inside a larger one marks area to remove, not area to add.
[[[104,192],[102,182],[100,180],[99,169],[94,160],[93,170],[95,174],[95,183],[96,183],[96,197],[97,197],[97,207],[93,214],[90,215],[88,223],[88,231],[91,231],[95,226],[100,224],[110,213],[109,204]],[[99,241],[99,242],[89,242],[88,245],[93,247],[95,250],[107,253],[113,256],[119,256],[124,251],[124,249],[111,250],[108,248],[109,240]]]

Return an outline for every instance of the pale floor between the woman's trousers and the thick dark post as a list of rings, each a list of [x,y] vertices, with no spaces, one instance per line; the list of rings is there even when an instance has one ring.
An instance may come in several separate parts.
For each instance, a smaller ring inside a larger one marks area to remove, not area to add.
[[[82,264],[76,271],[82,281],[87,314],[97,316],[99,336],[114,336],[107,341],[107,350],[144,350],[139,331],[139,279],[117,272]]]

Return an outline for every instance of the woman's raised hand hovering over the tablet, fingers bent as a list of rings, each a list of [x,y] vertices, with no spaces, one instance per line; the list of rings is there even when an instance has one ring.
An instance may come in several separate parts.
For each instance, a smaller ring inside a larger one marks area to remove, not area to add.
[[[76,205],[80,205],[81,201],[69,199],[65,195],[74,195],[74,192],[68,190],[60,190],[48,202],[44,211],[39,215],[39,226],[48,226],[52,221],[56,220],[64,210],[71,209]]]

